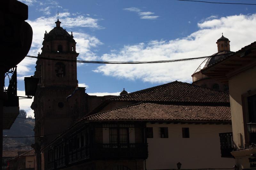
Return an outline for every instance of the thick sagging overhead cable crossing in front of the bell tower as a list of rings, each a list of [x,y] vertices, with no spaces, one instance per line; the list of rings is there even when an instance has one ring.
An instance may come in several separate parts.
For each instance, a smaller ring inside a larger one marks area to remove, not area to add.
[[[221,56],[214,55],[214,56]],[[153,64],[153,63],[172,63],[172,62],[182,62],[182,61],[190,61],[190,60],[199,60],[204,59],[210,56],[202,56],[202,57],[191,57],[191,58],[183,58],[183,59],[175,59],[175,60],[159,60],[159,61],[131,61],[131,62],[116,62],[116,61],[86,61],[86,60],[67,60],[67,59],[58,59],[58,58],[48,58],[48,57],[37,57],[32,55],[26,55],[26,57],[44,59],[44,60],[54,60],[54,61],[65,61],[65,62],[74,62],[74,63],[94,63],[94,64]]]

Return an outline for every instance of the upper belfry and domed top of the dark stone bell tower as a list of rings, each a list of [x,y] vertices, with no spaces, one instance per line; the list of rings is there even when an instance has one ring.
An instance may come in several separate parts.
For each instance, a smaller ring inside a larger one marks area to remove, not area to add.
[[[45,31],[42,53],[38,57],[49,60],[38,60],[36,63],[35,76],[40,78],[40,84],[46,86],[72,86],[76,87],[76,61],[79,55],[76,53],[76,41],[71,35],[60,27],[59,19],[49,33]],[[53,60],[52,60],[53,59]]]

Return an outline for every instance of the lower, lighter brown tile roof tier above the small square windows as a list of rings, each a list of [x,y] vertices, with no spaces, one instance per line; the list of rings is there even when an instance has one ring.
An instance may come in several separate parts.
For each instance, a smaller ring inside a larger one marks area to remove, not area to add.
[[[138,103],[85,117],[89,121],[231,121],[228,106]]]

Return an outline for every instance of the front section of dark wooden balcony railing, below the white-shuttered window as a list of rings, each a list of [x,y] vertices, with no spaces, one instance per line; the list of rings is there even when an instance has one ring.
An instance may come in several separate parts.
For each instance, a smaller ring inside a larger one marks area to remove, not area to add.
[[[92,159],[147,159],[147,144],[93,144]]]

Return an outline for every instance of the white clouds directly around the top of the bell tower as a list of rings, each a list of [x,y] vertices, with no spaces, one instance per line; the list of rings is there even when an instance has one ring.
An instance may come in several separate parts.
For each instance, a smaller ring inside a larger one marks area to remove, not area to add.
[[[98,25],[98,20],[90,17],[84,17],[77,15],[70,17],[69,12],[59,13],[61,26],[63,28],[74,28],[74,27],[90,27],[93,29],[102,28]],[[45,30],[50,30],[55,27],[56,16],[39,17],[35,20],[27,21],[33,29],[33,41],[28,55],[36,56],[38,52],[41,52],[42,42],[44,38]],[[71,34],[71,33],[70,33]],[[77,42],[76,51],[80,53],[79,57],[82,59],[95,59],[97,56],[91,51],[91,48],[95,48],[102,44],[96,37],[90,36],[85,33],[73,32],[74,39]],[[34,67],[36,65],[35,58],[25,57],[17,67],[18,77],[22,79],[25,75],[33,75]]]

